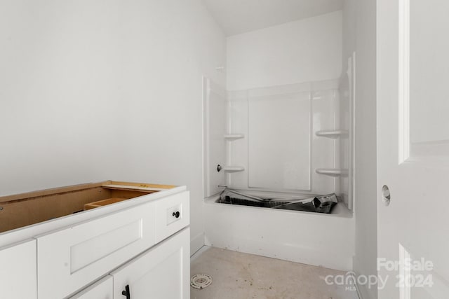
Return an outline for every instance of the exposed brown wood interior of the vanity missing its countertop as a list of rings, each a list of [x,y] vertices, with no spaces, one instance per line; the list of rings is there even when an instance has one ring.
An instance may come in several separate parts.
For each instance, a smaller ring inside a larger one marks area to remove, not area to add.
[[[175,188],[104,181],[0,197],[0,232]]]

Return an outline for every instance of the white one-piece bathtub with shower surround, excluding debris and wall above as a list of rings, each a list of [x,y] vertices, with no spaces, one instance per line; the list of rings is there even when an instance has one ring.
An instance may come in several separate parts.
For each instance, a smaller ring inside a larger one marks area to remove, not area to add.
[[[335,80],[227,91],[204,78],[206,245],[351,270],[353,60]],[[224,186],[339,203],[331,214],[220,204]]]

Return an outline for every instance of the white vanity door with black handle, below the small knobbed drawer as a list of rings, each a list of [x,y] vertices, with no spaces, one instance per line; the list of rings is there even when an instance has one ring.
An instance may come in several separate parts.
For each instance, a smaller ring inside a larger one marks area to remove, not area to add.
[[[127,289],[132,299],[188,299],[189,235],[185,228],[112,272],[114,299],[125,299]]]

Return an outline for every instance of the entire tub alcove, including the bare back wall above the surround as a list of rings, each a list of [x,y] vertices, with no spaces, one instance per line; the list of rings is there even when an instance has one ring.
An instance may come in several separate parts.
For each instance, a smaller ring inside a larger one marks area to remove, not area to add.
[[[203,79],[206,245],[353,269],[349,17],[343,8],[227,37],[226,86]],[[220,203],[223,186],[281,202],[335,193],[339,202],[330,214]]]

